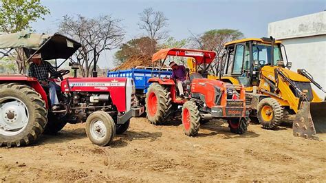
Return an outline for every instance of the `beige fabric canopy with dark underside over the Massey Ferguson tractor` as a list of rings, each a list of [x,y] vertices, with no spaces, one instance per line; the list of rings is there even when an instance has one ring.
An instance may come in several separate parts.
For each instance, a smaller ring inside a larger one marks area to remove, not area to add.
[[[34,53],[41,53],[42,58],[45,60],[67,59],[80,46],[80,43],[58,33],[35,34],[17,32],[0,35],[0,49],[21,47],[28,57]]]

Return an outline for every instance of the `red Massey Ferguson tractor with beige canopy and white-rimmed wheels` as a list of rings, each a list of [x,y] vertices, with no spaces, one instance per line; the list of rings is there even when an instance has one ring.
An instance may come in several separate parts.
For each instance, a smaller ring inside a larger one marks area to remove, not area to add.
[[[4,56],[21,49],[28,60],[41,53],[43,60],[63,58],[67,61],[79,47],[80,43],[61,34],[19,32],[0,36]],[[105,146],[116,133],[128,129],[132,116],[142,114],[142,108],[133,107],[135,87],[132,79],[78,78],[79,65],[69,65],[74,69],[74,77],[63,79],[69,70],[50,76],[61,85],[61,92],[58,92],[60,105],[54,111],[49,107],[48,89],[43,88],[36,78],[0,76],[0,146],[31,144],[43,132],[60,131],[67,122],[86,122],[89,140]],[[57,78],[61,78],[61,82]]]

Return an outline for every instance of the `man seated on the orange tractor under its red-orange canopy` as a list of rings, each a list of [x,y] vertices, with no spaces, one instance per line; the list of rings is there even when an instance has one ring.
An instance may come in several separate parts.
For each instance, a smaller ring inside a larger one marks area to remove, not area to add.
[[[171,78],[176,80],[177,89],[181,98],[184,98],[184,88],[182,85],[186,84],[186,67],[184,65],[177,65],[175,62],[171,62],[169,66],[173,69]]]

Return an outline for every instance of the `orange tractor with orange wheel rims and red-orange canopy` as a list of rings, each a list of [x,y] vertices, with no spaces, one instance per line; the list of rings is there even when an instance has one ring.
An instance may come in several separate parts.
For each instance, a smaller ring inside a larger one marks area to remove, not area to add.
[[[184,87],[185,98],[180,98],[172,78],[153,77],[146,93],[147,118],[154,125],[166,122],[171,116],[180,114],[182,106],[182,125],[187,136],[195,136],[201,123],[213,118],[228,121],[232,133],[244,133],[248,126],[249,111],[246,109],[246,94],[243,85],[230,85],[219,80],[205,78],[207,68],[215,59],[216,53],[202,50],[179,48],[163,49],[153,54],[153,63],[163,67],[167,56],[195,58],[195,70],[188,73]],[[188,84],[187,84],[188,83]]]

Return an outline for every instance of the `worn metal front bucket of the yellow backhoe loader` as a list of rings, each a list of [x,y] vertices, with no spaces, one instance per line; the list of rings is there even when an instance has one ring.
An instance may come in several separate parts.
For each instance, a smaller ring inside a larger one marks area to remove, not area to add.
[[[326,101],[303,102],[293,122],[293,135],[320,140],[316,133],[326,133]]]

